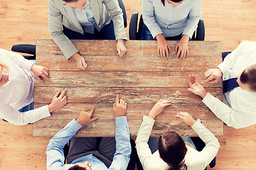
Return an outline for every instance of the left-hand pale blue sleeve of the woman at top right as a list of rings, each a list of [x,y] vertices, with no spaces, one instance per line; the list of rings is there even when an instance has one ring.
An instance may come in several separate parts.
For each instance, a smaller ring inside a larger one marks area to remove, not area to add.
[[[154,18],[154,6],[152,0],[142,0],[142,18],[146,27],[149,28],[153,38],[155,38],[156,35],[163,34]]]

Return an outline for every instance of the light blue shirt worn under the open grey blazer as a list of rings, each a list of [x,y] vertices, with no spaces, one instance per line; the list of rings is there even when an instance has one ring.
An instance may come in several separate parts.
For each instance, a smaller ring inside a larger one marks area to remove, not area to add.
[[[87,1],[82,11],[80,11],[78,8],[73,8],[73,11],[75,13],[75,16],[78,18],[78,21],[82,26],[82,29],[85,31],[85,33],[94,34],[94,28],[100,31],[103,27],[102,26],[100,28],[99,26],[97,26],[97,23],[92,13],[92,7],[90,6],[89,1]]]

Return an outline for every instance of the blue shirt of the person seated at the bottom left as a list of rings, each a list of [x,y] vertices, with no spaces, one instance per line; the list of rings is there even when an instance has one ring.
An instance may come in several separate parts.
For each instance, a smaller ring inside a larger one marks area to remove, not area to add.
[[[109,169],[121,170],[127,169],[130,154],[132,152],[129,142],[129,128],[127,125],[127,118],[125,116],[117,117],[116,120],[116,152]],[[89,162],[91,169],[107,170],[107,166],[92,154],[75,159],[72,164],[64,164],[64,151],[63,147],[73,137],[82,126],[73,119],[68,125],[60,130],[49,142],[46,155],[47,155],[47,169],[48,170],[66,170],[74,166],[78,162]]]

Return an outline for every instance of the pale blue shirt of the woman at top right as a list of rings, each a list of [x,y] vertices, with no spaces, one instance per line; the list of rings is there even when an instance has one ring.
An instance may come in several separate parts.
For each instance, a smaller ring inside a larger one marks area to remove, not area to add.
[[[142,18],[153,38],[163,34],[164,38],[186,34],[190,38],[201,17],[203,0],[184,0],[176,8],[165,1],[142,0]]]

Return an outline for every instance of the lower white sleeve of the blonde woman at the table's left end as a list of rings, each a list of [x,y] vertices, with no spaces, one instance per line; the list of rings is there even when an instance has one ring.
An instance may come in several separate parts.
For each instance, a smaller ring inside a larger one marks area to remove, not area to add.
[[[27,125],[28,123],[34,123],[48,116],[50,116],[50,112],[47,105],[23,113],[9,105],[0,108],[0,117],[14,125]]]

